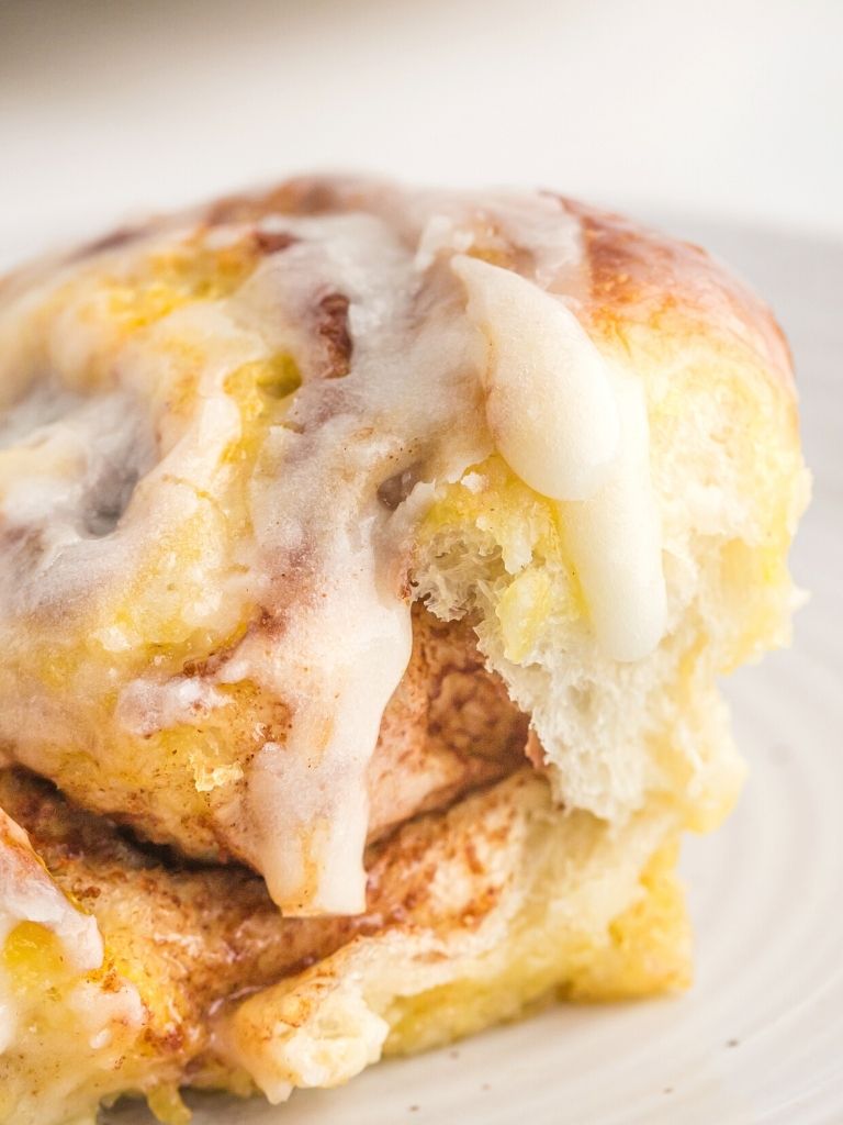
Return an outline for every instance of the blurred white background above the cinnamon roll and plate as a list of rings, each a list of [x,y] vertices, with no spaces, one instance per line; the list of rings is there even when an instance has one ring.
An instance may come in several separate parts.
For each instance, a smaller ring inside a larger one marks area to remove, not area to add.
[[[0,264],[312,169],[843,236],[842,0],[0,0]]]

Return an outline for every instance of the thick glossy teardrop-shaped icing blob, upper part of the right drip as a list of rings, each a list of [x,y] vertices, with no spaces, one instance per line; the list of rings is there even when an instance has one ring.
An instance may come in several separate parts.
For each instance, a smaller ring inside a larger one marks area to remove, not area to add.
[[[488,342],[486,413],[498,450],[544,496],[591,496],[619,438],[597,348],[559,298],[518,273],[462,255],[452,268]]]

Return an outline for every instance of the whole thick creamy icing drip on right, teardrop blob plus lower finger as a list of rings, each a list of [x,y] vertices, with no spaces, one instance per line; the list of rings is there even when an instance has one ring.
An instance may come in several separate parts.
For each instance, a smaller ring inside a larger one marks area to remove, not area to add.
[[[667,616],[643,390],[610,369],[558,297],[479,259],[457,255],[452,268],[488,345],[497,449],[526,485],[559,502],[607,656],[641,659]]]

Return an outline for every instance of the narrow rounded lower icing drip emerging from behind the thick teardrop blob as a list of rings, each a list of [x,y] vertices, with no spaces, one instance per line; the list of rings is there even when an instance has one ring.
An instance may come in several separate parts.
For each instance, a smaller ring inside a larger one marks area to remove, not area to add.
[[[664,633],[661,522],[643,387],[618,372],[615,394],[622,438],[611,476],[590,500],[562,504],[562,523],[600,645],[616,660],[640,660]]]

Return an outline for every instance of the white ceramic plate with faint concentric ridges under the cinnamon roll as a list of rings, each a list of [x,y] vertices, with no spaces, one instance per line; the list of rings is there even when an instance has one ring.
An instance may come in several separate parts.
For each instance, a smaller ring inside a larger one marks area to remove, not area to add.
[[[685,997],[558,1007],[332,1091],[190,1099],[194,1125],[843,1123],[843,245],[688,222],[777,309],[815,472],[794,567],[795,647],[728,684],[752,775],[683,868],[697,933]],[[112,1125],[152,1118],[137,1106]]]

